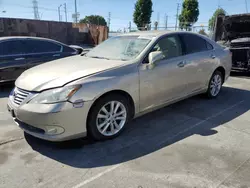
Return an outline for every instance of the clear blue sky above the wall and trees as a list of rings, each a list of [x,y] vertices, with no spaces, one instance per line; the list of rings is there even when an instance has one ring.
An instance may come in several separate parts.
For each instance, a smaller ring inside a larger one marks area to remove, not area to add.
[[[72,14],[75,11],[75,0],[37,0],[39,15],[42,20],[58,21],[58,7],[61,4],[67,5],[67,20],[72,21]],[[113,31],[128,28],[129,22],[132,28],[136,28],[133,23],[133,11],[136,0],[76,0],[77,11],[80,18],[86,15],[96,14],[108,20],[111,14],[110,28]],[[199,20],[197,26],[208,25],[209,18],[213,15],[218,6],[224,8],[228,14],[246,13],[246,3],[250,0],[200,0]],[[159,27],[165,26],[166,16],[168,16],[168,26],[174,27],[177,13],[177,4],[182,0],[153,0],[153,13],[151,21],[159,20]],[[28,18],[33,19],[32,0],[0,0],[0,17]],[[180,7],[181,8],[181,7]],[[64,8],[61,7],[62,21],[65,21]]]

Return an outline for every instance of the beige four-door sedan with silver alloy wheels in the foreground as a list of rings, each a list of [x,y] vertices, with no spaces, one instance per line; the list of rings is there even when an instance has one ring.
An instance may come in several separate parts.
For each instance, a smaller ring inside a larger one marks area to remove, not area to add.
[[[8,109],[28,134],[51,141],[118,136],[132,118],[206,93],[215,98],[231,70],[230,52],[190,32],[112,37],[90,52],[25,71]]]

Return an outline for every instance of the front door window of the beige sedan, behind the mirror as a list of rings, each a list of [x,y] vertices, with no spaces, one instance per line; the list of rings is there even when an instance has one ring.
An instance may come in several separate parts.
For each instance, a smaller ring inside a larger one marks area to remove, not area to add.
[[[166,59],[182,55],[182,48],[179,37],[169,36],[160,39],[152,51],[161,51]]]

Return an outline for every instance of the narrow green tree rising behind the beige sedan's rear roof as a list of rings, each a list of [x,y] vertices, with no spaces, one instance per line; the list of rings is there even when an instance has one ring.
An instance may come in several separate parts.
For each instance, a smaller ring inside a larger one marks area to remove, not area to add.
[[[198,0],[184,0],[182,12],[179,16],[180,28],[191,30],[192,25],[197,22],[199,14]]]

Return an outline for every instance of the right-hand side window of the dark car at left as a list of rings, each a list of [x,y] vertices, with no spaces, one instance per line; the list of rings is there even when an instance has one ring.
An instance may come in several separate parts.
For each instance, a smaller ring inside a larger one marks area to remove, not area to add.
[[[27,53],[45,53],[45,52],[59,52],[61,45],[43,40],[27,40],[26,42]]]

